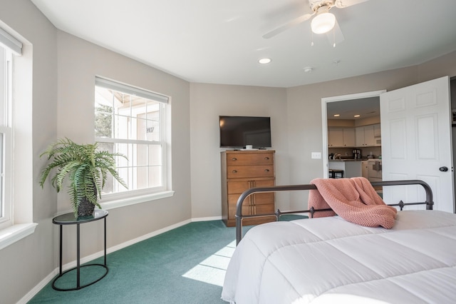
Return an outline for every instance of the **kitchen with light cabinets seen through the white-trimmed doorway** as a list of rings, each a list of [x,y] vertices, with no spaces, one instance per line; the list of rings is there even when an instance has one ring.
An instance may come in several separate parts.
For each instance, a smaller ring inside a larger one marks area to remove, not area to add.
[[[323,177],[381,181],[380,93],[322,98]]]

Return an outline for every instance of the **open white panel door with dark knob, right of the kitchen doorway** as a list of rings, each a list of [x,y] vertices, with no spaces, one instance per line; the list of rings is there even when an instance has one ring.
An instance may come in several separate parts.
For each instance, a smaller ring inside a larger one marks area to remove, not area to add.
[[[450,113],[448,77],[380,94],[383,181],[425,181],[434,209],[454,213]],[[421,186],[394,186],[384,187],[383,198],[418,202],[425,194]]]

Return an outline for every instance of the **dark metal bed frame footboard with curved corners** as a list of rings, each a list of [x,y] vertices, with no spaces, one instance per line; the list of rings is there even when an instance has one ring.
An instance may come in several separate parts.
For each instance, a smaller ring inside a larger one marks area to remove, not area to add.
[[[404,206],[411,206],[411,205],[426,205],[426,210],[432,210],[432,206],[434,202],[432,201],[432,190],[430,186],[425,183],[424,181],[420,180],[407,180],[407,181],[375,181],[371,182],[372,186],[410,186],[410,185],[421,185],[423,186],[425,193],[426,193],[426,200],[424,202],[418,203],[404,203],[403,201],[399,201],[399,203],[388,204],[388,206],[398,206],[402,211]],[[247,196],[250,196],[253,193],[261,193],[261,192],[279,192],[279,191],[303,191],[303,190],[317,190],[315,185],[306,184],[306,185],[288,185],[288,186],[271,186],[271,187],[256,187],[250,188],[244,191],[239,199],[237,200],[236,204],[236,245],[242,240],[242,219],[243,218],[258,218],[261,216],[276,216],[276,221],[279,221],[279,217],[283,214],[290,214],[290,213],[310,213],[310,217],[314,217],[314,213],[321,212],[321,211],[332,211],[331,208],[328,209],[314,209],[312,207],[309,210],[302,210],[302,211],[280,211],[277,209],[274,213],[265,213],[265,214],[255,214],[255,215],[243,215],[242,214],[242,204]]]

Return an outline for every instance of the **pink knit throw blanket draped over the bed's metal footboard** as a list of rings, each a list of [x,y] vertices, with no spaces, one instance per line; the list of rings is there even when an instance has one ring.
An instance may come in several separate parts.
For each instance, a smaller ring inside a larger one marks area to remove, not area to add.
[[[316,212],[314,217],[337,214],[361,226],[393,227],[398,211],[385,204],[366,178],[316,178],[311,183],[318,190],[309,191],[309,209],[331,208],[334,211]]]

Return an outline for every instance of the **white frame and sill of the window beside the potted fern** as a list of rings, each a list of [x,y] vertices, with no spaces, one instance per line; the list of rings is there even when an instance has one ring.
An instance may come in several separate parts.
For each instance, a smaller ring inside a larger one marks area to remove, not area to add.
[[[95,86],[128,93],[133,96],[140,96],[142,98],[158,101],[160,103],[160,141],[125,140],[120,138],[100,137],[95,137],[95,141],[100,143],[145,143],[147,145],[160,145],[162,148],[162,186],[128,190],[118,193],[104,193],[100,200],[100,205],[103,209],[112,209],[172,196],[174,191],[171,190],[170,181],[168,179],[170,163],[167,157],[168,146],[170,146],[170,138],[167,136],[170,132],[167,128],[170,128],[171,126],[170,121],[167,121],[170,118],[167,113],[168,108],[170,107],[170,97],[98,76],[95,77]]]

